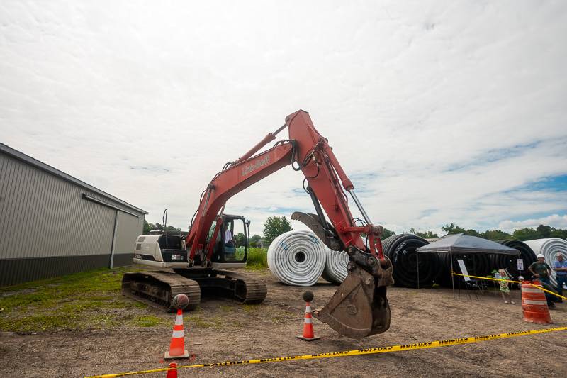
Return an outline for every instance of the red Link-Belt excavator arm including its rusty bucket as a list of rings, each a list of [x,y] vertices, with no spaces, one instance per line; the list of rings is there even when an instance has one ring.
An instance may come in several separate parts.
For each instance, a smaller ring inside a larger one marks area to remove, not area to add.
[[[276,134],[288,128],[289,139],[256,154]],[[374,226],[362,208],[354,185],[344,173],[326,138],[313,126],[306,111],[286,117],[286,123],[269,133],[245,155],[215,175],[201,196],[191,228],[186,237],[189,264],[210,265],[215,238],[220,228],[220,213],[226,201],[238,192],[277,170],[292,165],[303,172],[304,189],[310,195],[316,214],[293,213],[332,250],[346,250],[349,273],[326,306],[313,311],[337,332],[352,338],[382,333],[390,326],[390,308],[386,287],[393,284],[392,265],[383,255],[381,226]],[[359,208],[364,221],[355,219],[348,206],[347,191]],[[327,214],[327,219],[325,214]],[[207,240],[211,225],[216,222],[213,238]],[[357,223],[360,223],[357,226]],[[366,235],[363,240],[361,235]]]

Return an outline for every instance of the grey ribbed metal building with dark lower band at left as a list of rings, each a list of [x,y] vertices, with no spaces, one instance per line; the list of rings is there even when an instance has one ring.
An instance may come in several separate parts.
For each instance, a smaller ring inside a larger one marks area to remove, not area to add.
[[[0,285],[129,265],[145,214],[0,143]]]

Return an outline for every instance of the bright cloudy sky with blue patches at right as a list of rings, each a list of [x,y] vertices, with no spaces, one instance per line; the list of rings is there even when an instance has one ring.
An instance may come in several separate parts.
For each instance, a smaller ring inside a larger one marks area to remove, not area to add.
[[[566,1],[7,0],[0,142],[186,230],[304,109],[375,224],[567,228],[566,35]],[[302,181],[284,167],[225,212],[262,235],[313,212]]]

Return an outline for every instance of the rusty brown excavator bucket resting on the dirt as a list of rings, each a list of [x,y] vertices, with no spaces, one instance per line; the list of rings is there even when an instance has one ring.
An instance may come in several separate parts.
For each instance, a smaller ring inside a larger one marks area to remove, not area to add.
[[[335,295],[325,307],[313,311],[313,316],[349,338],[385,332],[390,328],[391,312],[384,280],[354,262],[349,262],[348,269]],[[387,269],[382,271],[388,273]]]

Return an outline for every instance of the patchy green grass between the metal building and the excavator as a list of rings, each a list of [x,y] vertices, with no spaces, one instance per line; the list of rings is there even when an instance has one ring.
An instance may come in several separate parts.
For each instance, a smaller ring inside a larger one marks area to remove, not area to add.
[[[146,307],[122,296],[122,276],[128,271],[132,269],[95,269],[1,288],[0,307],[4,311],[0,312],[0,330],[32,332],[118,326],[124,323],[120,308]]]

